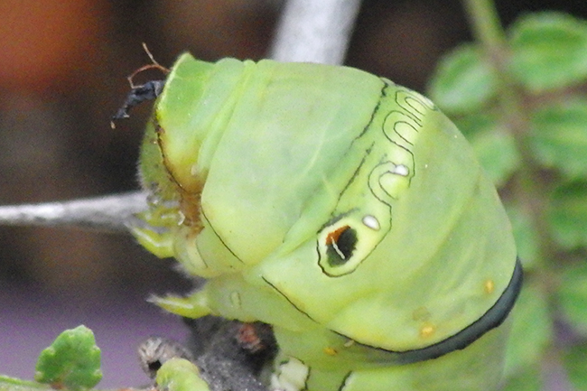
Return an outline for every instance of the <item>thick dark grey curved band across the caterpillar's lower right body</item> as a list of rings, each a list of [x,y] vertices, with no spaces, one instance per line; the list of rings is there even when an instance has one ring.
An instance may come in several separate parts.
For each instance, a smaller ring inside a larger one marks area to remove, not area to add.
[[[504,292],[501,293],[498,301],[494,303],[487,312],[481,315],[477,321],[472,322],[469,326],[465,327],[451,337],[445,340],[441,340],[440,342],[436,342],[433,345],[422,349],[394,351],[369,346],[358,341],[356,341],[356,344],[365,348],[392,353],[396,357],[394,361],[399,364],[410,364],[428,359],[439,358],[447,353],[451,353],[454,350],[465,349],[475,340],[479,340],[480,337],[482,337],[489,330],[495,329],[506,320],[509,312],[514,307],[517,296],[520,293],[520,289],[522,288],[522,281],[524,278],[523,275],[524,273],[522,270],[522,264],[519,260],[519,257],[517,257],[516,267],[514,268],[512,277],[509,280],[508,287],[506,287]],[[349,339],[349,337],[345,336],[344,334],[340,334],[339,332],[336,333],[341,337]]]

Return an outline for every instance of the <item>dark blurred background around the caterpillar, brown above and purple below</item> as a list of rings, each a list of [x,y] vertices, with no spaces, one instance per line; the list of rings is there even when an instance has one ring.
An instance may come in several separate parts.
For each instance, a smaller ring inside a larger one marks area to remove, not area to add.
[[[280,0],[0,0],[0,203],[92,197],[137,189],[135,162],[150,107],[115,130],[126,76],[182,51],[215,61],[266,56]],[[497,1],[503,23],[582,0]],[[457,0],[365,0],[347,64],[425,91],[439,56],[470,31]],[[160,79],[154,72],[147,76]],[[138,80],[145,81],[144,80]],[[81,323],[103,352],[100,386],[147,383],[136,345],[182,339],[182,322],[145,303],[190,290],[131,237],[63,228],[0,228],[0,373],[33,378],[41,349]]]

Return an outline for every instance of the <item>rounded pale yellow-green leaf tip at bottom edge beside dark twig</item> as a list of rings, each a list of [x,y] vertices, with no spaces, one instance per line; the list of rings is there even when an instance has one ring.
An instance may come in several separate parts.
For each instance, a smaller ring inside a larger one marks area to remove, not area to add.
[[[170,358],[157,371],[159,389],[168,391],[209,391],[200,371],[185,358]]]

